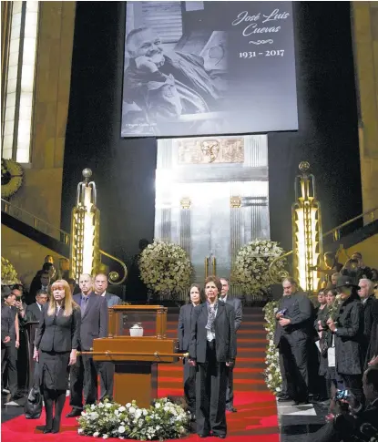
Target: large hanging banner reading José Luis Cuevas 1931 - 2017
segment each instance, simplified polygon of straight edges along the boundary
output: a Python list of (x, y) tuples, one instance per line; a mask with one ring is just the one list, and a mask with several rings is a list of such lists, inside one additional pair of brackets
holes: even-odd
[(127, 2), (122, 137), (296, 129), (291, 2)]

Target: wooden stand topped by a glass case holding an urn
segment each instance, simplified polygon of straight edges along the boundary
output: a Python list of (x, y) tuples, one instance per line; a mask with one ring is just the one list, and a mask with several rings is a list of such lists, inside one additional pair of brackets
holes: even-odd
[[(114, 400), (148, 407), (158, 396), (158, 364), (179, 360), (178, 340), (167, 337), (167, 307), (115, 305), (109, 308), (107, 338), (93, 342), (94, 361), (115, 365)], [(86, 352), (84, 352), (86, 353)]]

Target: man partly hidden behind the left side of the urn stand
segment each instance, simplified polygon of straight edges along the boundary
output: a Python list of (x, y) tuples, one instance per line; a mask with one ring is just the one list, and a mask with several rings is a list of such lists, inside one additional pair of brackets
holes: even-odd
[[(122, 303), (121, 298), (117, 294), (107, 293), (107, 275), (104, 273), (97, 273), (95, 276), (95, 293), (97, 296), (102, 296), (106, 299), (107, 308)], [(98, 368), (100, 375), (100, 400), (105, 397), (113, 400), (114, 364), (108, 361), (99, 362)]]

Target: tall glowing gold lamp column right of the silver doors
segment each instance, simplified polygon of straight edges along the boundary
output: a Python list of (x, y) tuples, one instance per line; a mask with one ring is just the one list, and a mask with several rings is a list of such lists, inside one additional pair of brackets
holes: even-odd
[(291, 206), (294, 277), (305, 292), (315, 292), (322, 266), (321, 204), (316, 200), (315, 177), (308, 173), (310, 164), (302, 161), (301, 175), (295, 179), (296, 202)]

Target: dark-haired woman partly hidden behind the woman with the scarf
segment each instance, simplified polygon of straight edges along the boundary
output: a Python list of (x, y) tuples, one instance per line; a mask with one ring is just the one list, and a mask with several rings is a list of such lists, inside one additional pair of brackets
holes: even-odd
[[(194, 307), (205, 302), (199, 284), (191, 284), (188, 303), (183, 305), (179, 310), (179, 351), (186, 353), (189, 350), (189, 342), (191, 336), (191, 323), (194, 314)], [(189, 365), (189, 359), (184, 357), (184, 396), (189, 406), (192, 420), (195, 419), (196, 413), (196, 367)]]

